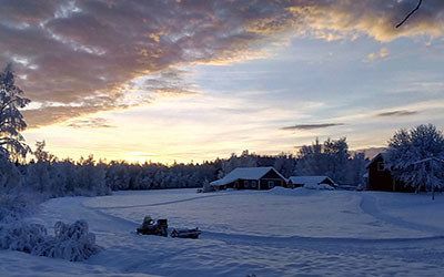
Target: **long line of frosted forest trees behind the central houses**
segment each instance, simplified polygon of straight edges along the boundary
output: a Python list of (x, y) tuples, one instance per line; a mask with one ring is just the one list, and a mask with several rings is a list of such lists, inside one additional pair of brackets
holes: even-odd
[(1, 158), (1, 185), (6, 189), (26, 187), (46, 197), (64, 195), (107, 195), (111, 191), (201, 187), (204, 182), (223, 177), (236, 167), (273, 166), (285, 177), (292, 175), (329, 175), (340, 184), (362, 184), (366, 160), (363, 154), (351, 156), (345, 138), (316, 140), (291, 154), (259, 155), (244, 151), (229, 158), (203, 163), (128, 163), (95, 161), (93, 156), (73, 161), (59, 160), (38, 142), (34, 160), (13, 164)]

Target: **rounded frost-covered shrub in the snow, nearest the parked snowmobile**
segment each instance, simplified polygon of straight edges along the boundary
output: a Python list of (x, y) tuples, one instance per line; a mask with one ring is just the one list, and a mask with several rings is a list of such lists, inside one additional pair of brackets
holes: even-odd
[(49, 237), (46, 242), (37, 245), (32, 249), (32, 254), (81, 261), (100, 249), (95, 244), (94, 234), (89, 233), (85, 220), (77, 220), (71, 225), (58, 222), (54, 226), (54, 237)]

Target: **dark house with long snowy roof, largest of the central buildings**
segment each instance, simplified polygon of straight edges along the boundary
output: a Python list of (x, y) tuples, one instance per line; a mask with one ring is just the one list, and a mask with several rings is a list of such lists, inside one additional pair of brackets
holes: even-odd
[(270, 189), (285, 186), (286, 179), (273, 167), (238, 167), (221, 179), (211, 182), (216, 189)]

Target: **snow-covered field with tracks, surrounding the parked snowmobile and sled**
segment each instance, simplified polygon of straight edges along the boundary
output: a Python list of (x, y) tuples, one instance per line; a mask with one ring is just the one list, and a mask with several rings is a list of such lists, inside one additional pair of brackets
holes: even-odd
[[(200, 239), (139, 236), (145, 215)], [(70, 263), (0, 250), (0, 275), (441, 276), (444, 196), (285, 189), (119, 192), (46, 202), (30, 220), (84, 218), (103, 250)]]

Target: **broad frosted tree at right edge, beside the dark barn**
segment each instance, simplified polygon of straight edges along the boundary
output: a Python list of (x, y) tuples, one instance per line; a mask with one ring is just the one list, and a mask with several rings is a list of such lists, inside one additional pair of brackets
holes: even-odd
[(389, 141), (386, 167), (420, 192), (444, 188), (444, 136), (432, 124), (400, 130)]

